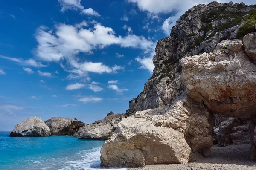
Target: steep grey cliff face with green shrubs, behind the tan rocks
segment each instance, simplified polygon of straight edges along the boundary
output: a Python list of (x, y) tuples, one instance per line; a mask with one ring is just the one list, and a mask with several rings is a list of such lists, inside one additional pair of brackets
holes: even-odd
[(255, 9), (256, 5), (232, 2), (212, 2), (189, 9), (177, 20), (171, 35), (158, 41), (153, 75), (145, 83), (143, 92), (129, 102), (127, 112), (172, 104), (185, 89), (180, 59), (212, 52), (222, 40), (242, 38), (246, 34), (243, 35), (241, 26), (253, 17)]

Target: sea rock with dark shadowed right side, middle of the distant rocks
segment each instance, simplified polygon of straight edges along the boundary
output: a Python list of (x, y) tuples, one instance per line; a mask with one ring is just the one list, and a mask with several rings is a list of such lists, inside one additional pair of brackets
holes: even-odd
[(50, 128), (52, 135), (74, 135), (77, 136), (77, 131), (83, 127), (84, 122), (77, 119), (53, 117), (45, 124)]

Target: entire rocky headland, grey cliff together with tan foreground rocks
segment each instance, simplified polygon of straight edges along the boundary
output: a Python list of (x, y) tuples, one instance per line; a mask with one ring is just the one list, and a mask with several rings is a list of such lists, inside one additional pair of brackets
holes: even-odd
[(256, 159), (255, 9), (212, 2), (177, 20), (157, 43), (153, 76), (129, 102), (131, 116), (103, 145), (102, 167), (197, 161), (210, 156), (213, 138), (250, 141)]

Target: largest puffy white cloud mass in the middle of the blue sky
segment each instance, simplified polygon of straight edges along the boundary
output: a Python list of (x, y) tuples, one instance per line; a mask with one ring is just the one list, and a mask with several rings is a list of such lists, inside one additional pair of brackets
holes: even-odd
[[(76, 57), (79, 53), (91, 54), (94, 49), (103, 49), (113, 44), (123, 48), (139, 48), (144, 51), (151, 49), (154, 43), (143, 36), (133, 34), (125, 37), (116, 36), (112, 28), (95, 23), (93, 28), (78, 28), (76, 26), (57, 24), (55, 30), (41, 26), (36, 35), (38, 46), (36, 56), (44, 61), (63, 61), (72, 68), (68, 78), (81, 78), (87, 72), (116, 73), (124, 69), (123, 66), (106, 66), (104, 63), (80, 61)], [(63, 66), (64, 68), (64, 66)]]

